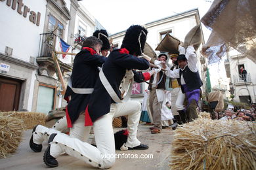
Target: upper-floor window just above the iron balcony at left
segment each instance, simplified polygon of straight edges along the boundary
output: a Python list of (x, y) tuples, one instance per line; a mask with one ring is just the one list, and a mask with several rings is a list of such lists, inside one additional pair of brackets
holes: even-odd
[(49, 16), (48, 30), (49, 32), (56, 33), (60, 38), (63, 36), (64, 26), (56, 20), (53, 16)]

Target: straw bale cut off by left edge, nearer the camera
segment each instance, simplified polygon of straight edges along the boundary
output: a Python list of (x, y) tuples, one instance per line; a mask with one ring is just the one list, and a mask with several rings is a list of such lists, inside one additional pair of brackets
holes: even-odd
[(11, 116), (0, 115), (0, 158), (16, 152), (22, 139), (23, 121)]

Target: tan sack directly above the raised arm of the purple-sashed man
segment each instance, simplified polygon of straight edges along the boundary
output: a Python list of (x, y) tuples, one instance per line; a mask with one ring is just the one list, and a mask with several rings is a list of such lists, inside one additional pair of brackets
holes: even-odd
[(184, 40), (184, 48), (187, 48), (190, 45), (194, 45), (195, 50), (198, 50), (202, 42), (202, 29), (200, 25), (193, 27), (186, 35)]

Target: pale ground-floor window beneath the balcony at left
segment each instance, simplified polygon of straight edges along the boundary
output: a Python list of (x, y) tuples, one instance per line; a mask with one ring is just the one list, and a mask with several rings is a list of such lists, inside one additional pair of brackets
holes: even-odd
[(43, 112), (47, 114), (50, 110), (53, 110), (55, 105), (56, 87), (47, 86), (45, 84), (39, 84), (37, 94), (37, 110), (36, 112)]

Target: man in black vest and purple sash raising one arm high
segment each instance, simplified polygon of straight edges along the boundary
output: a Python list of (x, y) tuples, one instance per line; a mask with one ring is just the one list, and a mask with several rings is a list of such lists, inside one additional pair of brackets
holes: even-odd
[(181, 84), (182, 93), (185, 93), (188, 99), (188, 105), (186, 106), (187, 121), (192, 122), (193, 119), (198, 118), (196, 107), (200, 98), (200, 87), (203, 82), (198, 73), (196, 67), (198, 59), (196, 57), (196, 51), (193, 46), (186, 48), (186, 55), (180, 54), (177, 58), (180, 69), (171, 71), (167, 67), (167, 76), (173, 78), (181, 78), (179, 82)]

